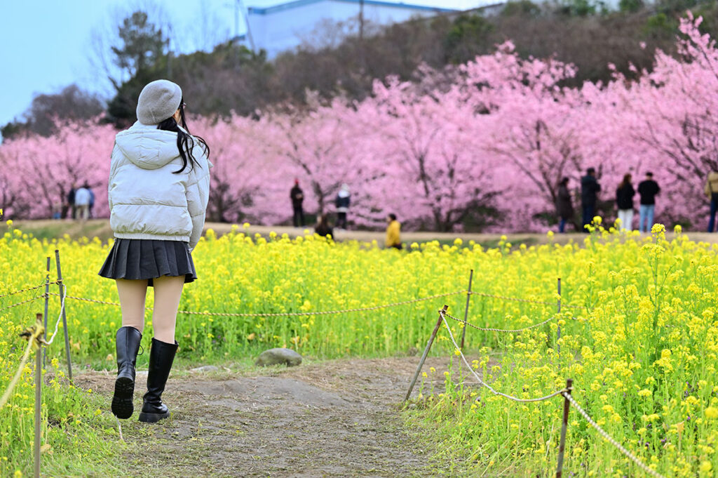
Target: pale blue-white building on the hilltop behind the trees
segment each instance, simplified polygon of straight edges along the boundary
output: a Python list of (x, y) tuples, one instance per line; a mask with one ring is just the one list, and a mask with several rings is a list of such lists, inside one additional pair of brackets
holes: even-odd
[[(437, 0), (437, 5), (440, 3), (441, 0)], [(274, 58), (280, 52), (301, 45), (322, 24), (357, 20), (362, 6), (365, 22), (373, 25), (457, 12), (441, 6), (380, 0), (294, 0), (266, 8), (250, 7), (248, 24), (254, 47), (266, 50), (269, 58)]]

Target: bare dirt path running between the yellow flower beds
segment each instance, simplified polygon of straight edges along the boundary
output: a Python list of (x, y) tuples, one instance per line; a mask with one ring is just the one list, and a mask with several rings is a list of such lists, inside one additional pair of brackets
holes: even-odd
[[(350, 359), (256, 375), (170, 377), (172, 416), (155, 426), (123, 421), (129, 472), (162, 477), (430, 477), (434, 446), (399, 412), (419, 357)], [(447, 359), (425, 367), (443, 378)], [(139, 378), (144, 382), (144, 378)], [(111, 374), (78, 377), (108, 397)], [(135, 403), (139, 403), (136, 391)]]

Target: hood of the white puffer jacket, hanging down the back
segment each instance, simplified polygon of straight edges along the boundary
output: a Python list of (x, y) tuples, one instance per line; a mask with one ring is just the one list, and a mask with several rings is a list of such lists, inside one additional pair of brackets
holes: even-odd
[(137, 121), (115, 137), (117, 147), (137, 167), (156, 170), (177, 157), (177, 133), (157, 129), (157, 125)]

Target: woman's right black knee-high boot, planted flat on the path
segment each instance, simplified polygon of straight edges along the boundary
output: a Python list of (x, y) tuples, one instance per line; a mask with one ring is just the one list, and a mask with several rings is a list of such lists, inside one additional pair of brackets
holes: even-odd
[(177, 342), (167, 344), (152, 339), (152, 348), (149, 351), (149, 374), (147, 374), (147, 392), (144, 394), (142, 411), (139, 420), (154, 423), (162, 418), (169, 417), (167, 405), (162, 403), (162, 392), (167, 384), (169, 370), (172, 369), (174, 354), (177, 353)]

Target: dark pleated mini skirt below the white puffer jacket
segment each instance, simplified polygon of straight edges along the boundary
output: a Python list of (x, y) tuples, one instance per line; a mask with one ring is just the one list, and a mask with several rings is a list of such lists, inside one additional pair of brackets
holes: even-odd
[(152, 239), (115, 239), (100, 270), (108, 279), (147, 280), (185, 276), (185, 284), (197, 279), (190, 244)]

